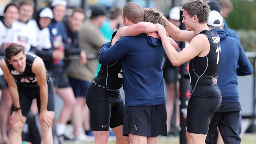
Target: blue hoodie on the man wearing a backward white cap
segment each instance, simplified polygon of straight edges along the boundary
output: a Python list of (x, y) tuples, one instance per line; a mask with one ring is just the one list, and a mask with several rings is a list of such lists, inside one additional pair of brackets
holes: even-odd
[(222, 103), (239, 102), (237, 76), (252, 74), (252, 65), (237, 39), (229, 37), (224, 30), (215, 29), (214, 31), (221, 39), (218, 86), (222, 94)]

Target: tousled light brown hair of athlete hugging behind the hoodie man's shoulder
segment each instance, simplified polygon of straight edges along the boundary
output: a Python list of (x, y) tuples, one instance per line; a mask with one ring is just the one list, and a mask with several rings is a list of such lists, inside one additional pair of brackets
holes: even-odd
[(144, 21), (151, 22), (153, 24), (161, 24), (164, 27), (167, 26), (167, 23), (162, 18), (162, 13), (156, 9), (144, 8)]

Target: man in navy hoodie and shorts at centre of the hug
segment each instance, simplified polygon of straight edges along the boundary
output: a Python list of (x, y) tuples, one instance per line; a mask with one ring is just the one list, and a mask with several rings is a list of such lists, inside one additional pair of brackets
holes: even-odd
[[(133, 23), (125, 16), (123, 22), (126, 26)], [(104, 65), (121, 59), (125, 90), (123, 135), (129, 135), (132, 144), (156, 144), (158, 135), (167, 134), (161, 41), (141, 33), (122, 37), (109, 46), (109, 42), (102, 46), (99, 62)]]

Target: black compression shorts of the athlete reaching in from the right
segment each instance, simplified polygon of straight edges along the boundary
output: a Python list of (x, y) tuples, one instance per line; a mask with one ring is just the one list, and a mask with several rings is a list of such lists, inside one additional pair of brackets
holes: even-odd
[(191, 96), (187, 106), (187, 132), (206, 135), (213, 114), (221, 106), (221, 99)]

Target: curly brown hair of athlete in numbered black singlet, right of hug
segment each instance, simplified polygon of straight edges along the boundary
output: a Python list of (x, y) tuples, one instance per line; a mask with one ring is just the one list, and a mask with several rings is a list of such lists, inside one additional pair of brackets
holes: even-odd
[(183, 4), (182, 9), (186, 10), (191, 17), (196, 15), (199, 23), (207, 23), (210, 6), (202, 0), (191, 0)]

